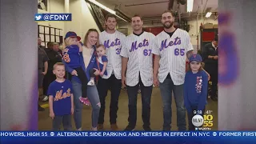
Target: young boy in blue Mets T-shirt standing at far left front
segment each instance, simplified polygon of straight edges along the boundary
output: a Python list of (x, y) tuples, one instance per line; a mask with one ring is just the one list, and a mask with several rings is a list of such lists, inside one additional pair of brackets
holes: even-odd
[(56, 80), (48, 88), (50, 118), (53, 119), (53, 130), (71, 130), (71, 114), (74, 114), (74, 96), (72, 83), (64, 78), (65, 66), (62, 62), (54, 64)]

